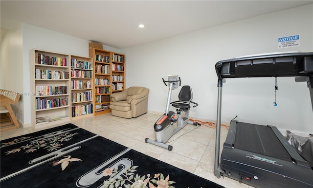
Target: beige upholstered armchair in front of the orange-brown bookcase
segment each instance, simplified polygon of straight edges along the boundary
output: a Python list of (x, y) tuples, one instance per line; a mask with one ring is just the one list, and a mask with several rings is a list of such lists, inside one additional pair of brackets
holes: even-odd
[(129, 87), (122, 92), (111, 94), (112, 115), (132, 118), (147, 113), (148, 94), (149, 89), (145, 87)]

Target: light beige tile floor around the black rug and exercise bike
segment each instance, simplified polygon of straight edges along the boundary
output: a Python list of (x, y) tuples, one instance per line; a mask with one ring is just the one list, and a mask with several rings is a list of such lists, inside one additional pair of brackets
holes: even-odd
[[(161, 114), (146, 113), (137, 118), (125, 119), (111, 113), (74, 120), (70, 123), (85, 130), (108, 138), (126, 147), (132, 148), (160, 161), (184, 169), (227, 188), (251, 188), (230, 178), (215, 177), (215, 129), (207, 126), (187, 125), (169, 140), (172, 151), (145, 143), (145, 138), (155, 139), (154, 124)], [(198, 119), (200, 121), (208, 121)], [(59, 126), (59, 125), (56, 125)], [(46, 127), (47, 129), (50, 127)], [(0, 139), (7, 139), (41, 129), (20, 128), (0, 132)], [(221, 128), (221, 147), (228, 130)], [(222, 148), (221, 148), (222, 152)]]

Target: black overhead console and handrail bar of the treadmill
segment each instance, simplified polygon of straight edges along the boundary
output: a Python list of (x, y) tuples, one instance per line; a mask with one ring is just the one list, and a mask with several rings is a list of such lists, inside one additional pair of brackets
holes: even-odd
[[(246, 73), (236, 73), (236, 69), (243, 66), (247, 70)], [(268, 69), (269, 66), (276, 68), (276, 70)], [(278, 69), (282, 66), (286, 69)], [(218, 61), (215, 64), (215, 70), (219, 80), (236, 77), (308, 76), (313, 74), (313, 52), (245, 56), (227, 59)]]

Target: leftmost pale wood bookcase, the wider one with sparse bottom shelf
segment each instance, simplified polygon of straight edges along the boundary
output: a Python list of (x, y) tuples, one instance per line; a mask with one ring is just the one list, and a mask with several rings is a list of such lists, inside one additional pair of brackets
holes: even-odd
[(70, 55), (33, 49), (31, 65), (32, 125), (70, 121)]

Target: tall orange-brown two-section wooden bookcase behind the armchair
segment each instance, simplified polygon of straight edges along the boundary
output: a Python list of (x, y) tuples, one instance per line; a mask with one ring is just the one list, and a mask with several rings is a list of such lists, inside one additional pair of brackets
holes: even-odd
[(90, 48), (89, 57), (94, 62), (93, 114), (110, 113), (111, 94), (125, 90), (125, 55)]

